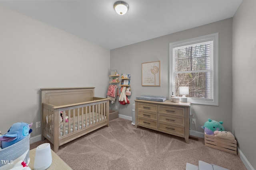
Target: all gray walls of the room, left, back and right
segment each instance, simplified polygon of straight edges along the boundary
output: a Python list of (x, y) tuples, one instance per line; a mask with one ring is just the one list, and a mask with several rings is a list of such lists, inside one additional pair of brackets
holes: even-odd
[[(169, 96), (169, 43), (218, 32), (219, 106), (192, 104), (196, 131), (203, 132), (200, 126), (208, 118), (223, 121), (226, 130), (236, 136), (244, 158), (256, 169), (255, 9), (255, 0), (243, 0), (233, 21), (230, 18), (109, 51), (0, 5), (0, 130), (4, 133), (19, 121), (40, 121), (40, 88), (94, 86), (95, 96), (105, 97), (112, 69), (132, 76), (131, 104), (110, 104), (112, 109), (118, 107), (119, 114), (131, 117), (136, 96)], [(161, 61), (160, 87), (141, 86), (141, 63), (151, 61)], [(190, 127), (195, 130), (194, 125)], [(40, 135), (40, 128), (33, 125), (32, 129), (32, 137)]]

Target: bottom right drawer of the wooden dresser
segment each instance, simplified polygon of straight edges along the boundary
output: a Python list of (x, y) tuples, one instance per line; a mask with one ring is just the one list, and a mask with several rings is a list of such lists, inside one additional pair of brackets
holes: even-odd
[(185, 131), (184, 131), (184, 127), (178, 127), (178, 126), (174, 126), (174, 125), (167, 125), (164, 123), (158, 123), (158, 129), (160, 131), (163, 131), (165, 133), (169, 133), (169, 134), (177, 134), (180, 136), (184, 136), (185, 135)]

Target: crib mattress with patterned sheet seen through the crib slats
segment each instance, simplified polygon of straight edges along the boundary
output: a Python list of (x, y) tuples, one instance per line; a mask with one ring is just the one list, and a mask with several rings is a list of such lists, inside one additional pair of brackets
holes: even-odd
[[(86, 121), (85, 120), (85, 114), (84, 114), (84, 121), (82, 123), (82, 115), (80, 115), (80, 117), (79, 117), (79, 129), (81, 129), (82, 126), (85, 127), (86, 124), (87, 124), (87, 126), (89, 126), (89, 125), (92, 125), (93, 123), (96, 123), (96, 122), (99, 122), (99, 121), (104, 121), (106, 118), (107, 118), (106, 116), (101, 117), (101, 115), (100, 115), (100, 119), (99, 119), (99, 115), (98, 115), (98, 113), (96, 113), (96, 116), (94, 115), (93, 119), (92, 119), (92, 116), (90, 116), (90, 118), (87, 118), (87, 121)], [(71, 132), (74, 131), (72, 120), (73, 119), (71, 119), (71, 122), (70, 122), (70, 131)], [(75, 130), (77, 130), (77, 128), (78, 128), (77, 116), (75, 117), (75, 120), (76, 120)], [(65, 134), (68, 134), (68, 122), (65, 123)], [(60, 125), (60, 136), (63, 136), (63, 122)]]

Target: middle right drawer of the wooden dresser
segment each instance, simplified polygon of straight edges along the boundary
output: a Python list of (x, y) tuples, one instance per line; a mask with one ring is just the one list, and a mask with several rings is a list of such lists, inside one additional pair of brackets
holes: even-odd
[(179, 116), (158, 114), (158, 121), (166, 124), (185, 126), (185, 118)]

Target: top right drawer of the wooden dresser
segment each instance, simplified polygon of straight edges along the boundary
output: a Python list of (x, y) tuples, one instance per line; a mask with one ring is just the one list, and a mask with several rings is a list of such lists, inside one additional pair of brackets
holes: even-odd
[(176, 115), (176, 116), (185, 116), (184, 107), (172, 107), (172, 106), (158, 106), (158, 113)]

